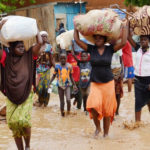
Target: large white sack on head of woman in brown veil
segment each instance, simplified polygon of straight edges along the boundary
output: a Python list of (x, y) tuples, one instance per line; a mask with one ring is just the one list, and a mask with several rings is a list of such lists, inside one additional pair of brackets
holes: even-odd
[(23, 16), (9, 16), (1, 28), (1, 38), (5, 42), (25, 41), (38, 33), (36, 20)]

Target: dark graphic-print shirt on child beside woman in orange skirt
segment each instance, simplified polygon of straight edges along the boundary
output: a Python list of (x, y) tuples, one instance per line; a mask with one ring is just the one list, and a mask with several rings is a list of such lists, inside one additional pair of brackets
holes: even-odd
[(80, 67), (80, 88), (87, 88), (90, 84), (92, 66), (90, 62), (78, 62)]

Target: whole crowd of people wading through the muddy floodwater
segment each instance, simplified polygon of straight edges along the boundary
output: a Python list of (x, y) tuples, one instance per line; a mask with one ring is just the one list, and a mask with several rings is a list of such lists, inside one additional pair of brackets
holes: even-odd
[[(0, 22), (0, 27), (5, 22)], [(77, 109), (89, 113), (95, 124), (95, 137), (101, 131), (103, 119), (104, 137), (109, 134), (110, 124), (119, 115), (123, 97), (123, 81), (128, 79), (128, 91), (135, 85), (135, 120), (141, 121), (142, 108), (150, 110), (150, 36), (141, 35), (140, 44), (132, 39), (128, 20), (122, 26), (120, 42), (108, 44), (108, 37), (94, 35), (95, 44), (80, 40), (74, 29), (74, 40), (82, 48), (76, 52), (74, 45), (70, 51), (61, 49), (59, 62), (55, 62), (53, 49), (48, 42), (48, 33), (38, 33), (37, 42), (28, 51), (23, 41), (9, 43), (9, 50), (0, 51), (2, 69), (2, 92), (6, 95), (7, 124), (13, 132), (18, 150), (30, 150), (31, 111), (33, 92), (38, 95), (39, 106), (49, 103), (52, 82), (57, 78), (61, 116), (65, 117), (65, 97), (67, 114), (71, 111), (71, 99)], [(65, 32), (63, 23), (60, 32)], [(136, 65), (133, 66), (132, 47), (137, 51)], [(54, 73), (50, 78), (51, 67)], [(135, 71), (134, 71), (135, 70)], [(34, 88), (33, 86), (34, 85)]]

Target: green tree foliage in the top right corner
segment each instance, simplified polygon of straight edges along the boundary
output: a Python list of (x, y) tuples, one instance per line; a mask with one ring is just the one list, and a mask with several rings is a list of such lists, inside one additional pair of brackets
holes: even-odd
[(125, 0), (125, 5), (129, 6), (144, 6), (144, 5), (150, 5), (150, 0)]

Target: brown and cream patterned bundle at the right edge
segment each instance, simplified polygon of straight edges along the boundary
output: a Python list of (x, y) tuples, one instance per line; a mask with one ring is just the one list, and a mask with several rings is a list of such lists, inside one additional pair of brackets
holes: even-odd
[(143, 6), (130, 17), (130, 28), (136, 35), (150, 35), (150, 6)]

